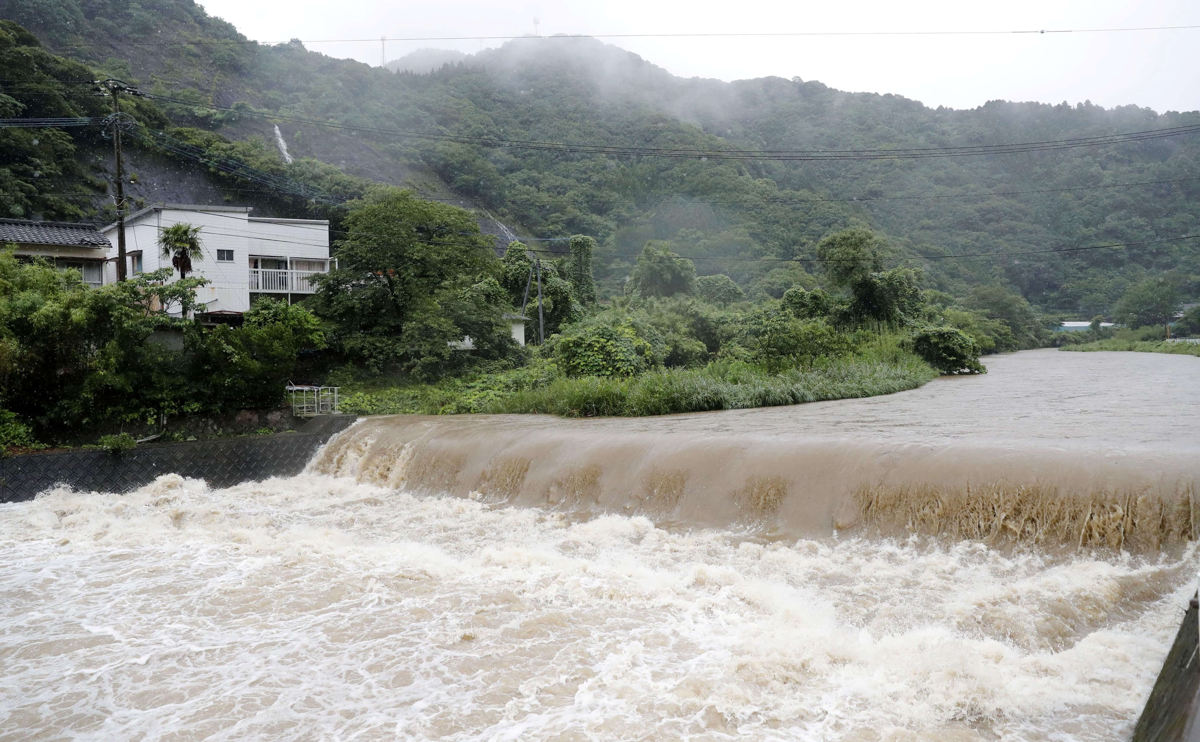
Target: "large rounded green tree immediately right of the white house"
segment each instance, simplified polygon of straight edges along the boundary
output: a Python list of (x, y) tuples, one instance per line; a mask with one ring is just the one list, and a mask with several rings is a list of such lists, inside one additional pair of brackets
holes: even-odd
[[(310, 299), (338, 354), (374, 372), (434, 378), (472, 357), (516, 352), (500, 318), (509, 307), (494, 304), (503, 292), (472, 291), (494, 282), (500, 265), (470, 211), (380, 187), (350, 205), (346, 231), (337, 269)], [(475, 352), (451, 346), (466, 336)]]

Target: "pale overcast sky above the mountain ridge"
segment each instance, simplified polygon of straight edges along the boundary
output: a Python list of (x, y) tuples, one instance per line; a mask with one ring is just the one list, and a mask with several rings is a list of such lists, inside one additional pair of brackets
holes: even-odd
[[(251, 38), (299, 37), (334, 56), (379, 64), (379, 36), (770, 31), (995, 31), (1200, 25), (1198, 0), (200, 0)], [(311, 40), (371, 38), (316, 43)], [(841, 90), (895, 92), (929, 106), (989, 100), (1200, 109), (1200, 28), (964, 36), (606, 38), (683, 77), (799, 76)], [(478, 52), (503, 41), (388, 42), (388, 59), (420, 47)]]

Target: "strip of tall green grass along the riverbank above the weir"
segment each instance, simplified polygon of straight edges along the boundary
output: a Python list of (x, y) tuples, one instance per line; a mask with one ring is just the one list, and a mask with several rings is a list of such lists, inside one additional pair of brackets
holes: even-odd
[(515, 371), (439, 384), (352, 389), (342, 409), (355, 414), (643, 417), (893, 394), (916, 389), (937, 375), (884, 339), (851, 357), (781, 372), (742, 361), (713, 361), (700, 369), (660, 369), (632, 377), (570, 377), (552, 361), (540, 360)]

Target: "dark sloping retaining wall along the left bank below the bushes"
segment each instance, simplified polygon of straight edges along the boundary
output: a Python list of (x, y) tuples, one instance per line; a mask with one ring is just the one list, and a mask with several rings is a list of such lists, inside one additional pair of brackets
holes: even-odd
[(128, 492), (162, 474), (204, 479), (226, 487), (268, 477), (294, 477), (354, 415), (322, 415), (294, 433), (143, 444), (121, 456), (101, 450), (30, 454), (0, 459), (0, 502), (32, 499), (56, 485)]

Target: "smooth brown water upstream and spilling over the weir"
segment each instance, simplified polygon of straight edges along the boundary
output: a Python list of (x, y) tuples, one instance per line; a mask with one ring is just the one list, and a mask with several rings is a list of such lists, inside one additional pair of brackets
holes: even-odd
[[(1072, 363), (1080, 355), (1025, 353), (992, 361), (988, 377), (799, 407), (637, 420), (376, 418), (314, 467), (491, 503), (776, 535), (914, 531), (1135, 551), (1189, 540), (1200, 532), (1200, 405), (1180, 377), (1139, 373), (1129, 388), (1118, 354)], [(1194, 359), (1180, 361), (1165, 365), (1194, 378)], [(1031, 379), (1031, 369), (1048, 378)], [(1159, 399), (1154, 381), (1178, 399)]]

